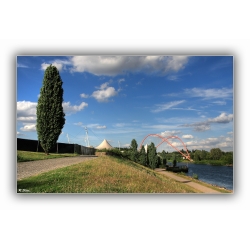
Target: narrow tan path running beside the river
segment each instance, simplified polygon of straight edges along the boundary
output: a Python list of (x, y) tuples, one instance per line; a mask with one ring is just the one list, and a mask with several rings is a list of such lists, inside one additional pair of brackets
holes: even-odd
[(179, 181), (179, 182), (182, 182), (182, 183), (185, 183), (186, 185), (190, 186), (190, 187), (193, 187), (199, 191), (201, 191), (201, 193), (205, 193), (205, 194), (221, 194), (221, 192), (219, 191), (216, 191), (216, 190), (213, 190), (209, 187), (205, 187), (199, 183), (196, 183), (196, 182), (193, 182), (193, 181), (190, 181), (190, 180), (187, 180), (185, 178), (182, 178), (174, 173), (171, 173), (171, 172), (168, 172), (166, 171), (165, 169), (155, 169), (156, 172), (159, 172), (163, 175), (166, 175), (176, 181)]

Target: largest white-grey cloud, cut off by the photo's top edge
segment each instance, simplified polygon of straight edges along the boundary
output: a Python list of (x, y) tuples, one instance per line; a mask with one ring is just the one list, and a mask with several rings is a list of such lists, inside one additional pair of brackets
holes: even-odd
[(183, 69), (187, 56), (73, 56), (72, 72), (115, 76), (128, 71), (147, 73), (177, 72)]

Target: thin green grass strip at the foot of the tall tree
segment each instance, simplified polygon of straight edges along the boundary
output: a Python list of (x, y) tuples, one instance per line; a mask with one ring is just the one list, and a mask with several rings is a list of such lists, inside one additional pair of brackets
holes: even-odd
[(17, 151), (17, 162), (24, 161), (37, 161), (37, 160), (46, 160), (53, 158), (62, 158), (76, 156), (77, 154), (49, 154), (46, 155), (42, 152), (29, 152), (29, 151)]

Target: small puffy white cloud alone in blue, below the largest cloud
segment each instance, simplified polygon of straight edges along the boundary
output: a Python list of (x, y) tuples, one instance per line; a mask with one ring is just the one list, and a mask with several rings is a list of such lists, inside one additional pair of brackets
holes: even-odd
[(94, 97), (98, 102), (110, 101), (110, 98), (116, 96), (118, 91), (116, 91), (114, 87), (109, 87), (108, 85), (109, 82), (101, 84), (99, 90), (96, 90), (92, 93), (92, 97)]

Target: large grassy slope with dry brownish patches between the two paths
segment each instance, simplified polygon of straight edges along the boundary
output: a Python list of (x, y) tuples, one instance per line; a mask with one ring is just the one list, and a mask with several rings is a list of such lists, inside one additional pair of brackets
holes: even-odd
[(28, 190), (30, 193), (197, 192), (137, 163), (112, 156), (98, 157), (20, 180), (17, 190)]

